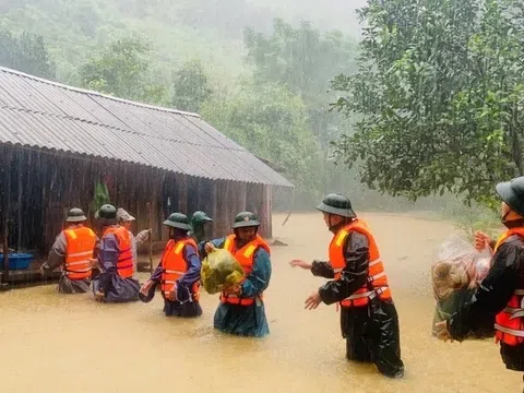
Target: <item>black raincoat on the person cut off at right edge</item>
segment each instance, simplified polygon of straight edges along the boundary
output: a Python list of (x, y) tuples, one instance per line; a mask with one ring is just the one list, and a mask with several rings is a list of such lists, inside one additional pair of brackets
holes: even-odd
[[(453, 314), (448, 330), (454, 340), (465, 340), (478, 326), (492, 324), (515, 289), (524, 288), (524, 238), (511, 236), (499, 247), (491, 269), (475, 293), (473, 300)], [(524, 344), (510, 346), (500, 343), (505, 367), (524, 371)]]

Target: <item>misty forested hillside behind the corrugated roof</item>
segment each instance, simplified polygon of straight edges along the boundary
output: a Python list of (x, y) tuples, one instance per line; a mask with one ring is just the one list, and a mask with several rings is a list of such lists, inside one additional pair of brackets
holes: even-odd
[(352, 122), (329, 109), (357, 31), (342, 0), (2, 0), (0, 64), (199, 112), (285, 170), (281, 203), (310, 206), (353, 182), (329, 160)]

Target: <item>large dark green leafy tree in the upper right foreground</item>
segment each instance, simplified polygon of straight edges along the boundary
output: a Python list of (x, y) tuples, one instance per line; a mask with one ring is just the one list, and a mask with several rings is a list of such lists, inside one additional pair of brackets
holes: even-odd
[(502, 0), (370, 0), (359, 72), (333, 107), (358, 115), (334, 143), (370, 188), (412, 200), (445, 191), (486, 202), (523, 174), (522, 13)]

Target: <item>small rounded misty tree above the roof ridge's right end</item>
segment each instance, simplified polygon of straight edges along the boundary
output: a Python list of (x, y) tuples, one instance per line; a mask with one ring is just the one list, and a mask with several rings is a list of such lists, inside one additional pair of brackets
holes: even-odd
[(172, 106), (180, 110), (199, 112), (202, 103), (213, 94), (200, 60), (186, 62), (174, 75)]

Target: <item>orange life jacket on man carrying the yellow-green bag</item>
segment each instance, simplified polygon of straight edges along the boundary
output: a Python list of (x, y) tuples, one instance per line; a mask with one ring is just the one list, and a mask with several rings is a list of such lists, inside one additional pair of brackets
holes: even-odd
[[(267, 253), (271, 254), (270, 246), (267, 246), (260, 235), (257, 235), (254, 240), (250, 241), (238, 250), (235, 235), (229, 235), (226, 237), (226, 242), (224, 243), (224, 249), (229, 251), (242, 266), (245, 277), (251, 274), (253, 271), (254, 253), (259, 248), (263, 248), (265, 251), (267, 251)], [(263, 300), (263, 295), (260, 294), (257, 296), (257, 298)], [(254, 300), (255, 298), (242, 298), (238, 297), (237, 295), (226, 295), (224, 293), (221, 295), (221, 301), (229, 305), (251, 306), (254, 303)]]

